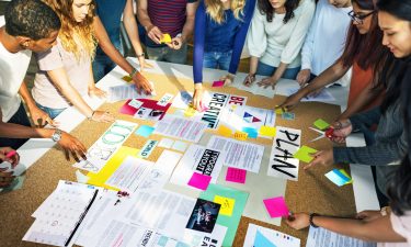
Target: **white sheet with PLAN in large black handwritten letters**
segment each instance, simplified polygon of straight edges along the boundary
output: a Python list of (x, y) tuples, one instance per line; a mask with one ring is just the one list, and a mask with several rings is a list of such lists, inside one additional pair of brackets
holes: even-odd
[(299, 149), (301, 131), (282, 126), (276, 128), (267, 176), (297, 181), (299, 160), (293, 155)]

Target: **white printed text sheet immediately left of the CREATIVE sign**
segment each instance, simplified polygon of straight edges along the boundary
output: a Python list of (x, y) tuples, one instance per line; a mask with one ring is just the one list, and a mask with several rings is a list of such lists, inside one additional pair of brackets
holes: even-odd
[(167, 115), (156, 124), (155, 134), (198, 143), (206, 128), (207, 123), (205, 122)]

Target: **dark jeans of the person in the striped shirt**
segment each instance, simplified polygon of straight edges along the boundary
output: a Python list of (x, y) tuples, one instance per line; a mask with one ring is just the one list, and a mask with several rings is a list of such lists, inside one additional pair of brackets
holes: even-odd
[(149, 59), (185, 65), (187, 61), (187, 44), (184, 43), (180, 49), (172, 49), (169, 46), (146, 47)]

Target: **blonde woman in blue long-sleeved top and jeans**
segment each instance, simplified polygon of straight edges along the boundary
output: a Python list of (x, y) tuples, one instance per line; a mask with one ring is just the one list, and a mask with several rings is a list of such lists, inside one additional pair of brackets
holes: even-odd
[(201, 109), (203, 67), (228, 70), (231, 83), (238, 69), (255, 0), (203, 0), (195, 14), (194, 105)]

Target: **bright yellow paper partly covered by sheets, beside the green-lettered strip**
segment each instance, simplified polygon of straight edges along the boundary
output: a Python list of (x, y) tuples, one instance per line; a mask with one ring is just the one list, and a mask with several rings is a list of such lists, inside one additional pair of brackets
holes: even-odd
[(103, 187), (111, 190), (118, 190), (116, 188), (110, 187), (104, 184), (105, 181), (117, 170), (117, 168), (122, 165), (123, 160), (127, 156), (137, 157), (139, 153), (138, 149), (122, 146), (114, 155), (109, 159), (105, 166), (100, 170), (99, 173), (89, 172), (87, 177), (89, 177), (89, 181), (87, 183), (98, 187)]

